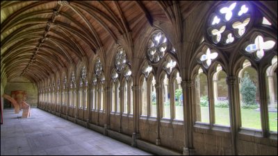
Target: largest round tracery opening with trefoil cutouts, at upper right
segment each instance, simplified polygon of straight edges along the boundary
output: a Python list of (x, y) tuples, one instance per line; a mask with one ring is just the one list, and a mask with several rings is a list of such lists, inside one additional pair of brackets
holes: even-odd
[(250, 5), (244, 1), (224, 3), (209, 16), (206, 36), (218, 46), (232, 44), (246, 33), (251, 14)]

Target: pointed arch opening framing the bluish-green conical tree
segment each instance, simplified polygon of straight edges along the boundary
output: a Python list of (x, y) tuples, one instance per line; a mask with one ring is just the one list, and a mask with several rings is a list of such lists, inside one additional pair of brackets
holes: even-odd
[[(261, 130), (261, 113), (258, 72), (245, 60), (238, 73), (240, 92), (241, 127)], [(252, 118), (250, 117), (252, 116)]]

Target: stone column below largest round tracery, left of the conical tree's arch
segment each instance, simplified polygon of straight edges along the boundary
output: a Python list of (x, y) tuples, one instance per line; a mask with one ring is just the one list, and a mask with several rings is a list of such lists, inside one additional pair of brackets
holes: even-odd
[(226, 79), (229, 92), (229, 113), (231, 125), (231, 155), (237, 155), (236, 138), (237, 131), (240, 128), (240, 93), (238, 90), (238, 79), (236, 76), (229, 76)]

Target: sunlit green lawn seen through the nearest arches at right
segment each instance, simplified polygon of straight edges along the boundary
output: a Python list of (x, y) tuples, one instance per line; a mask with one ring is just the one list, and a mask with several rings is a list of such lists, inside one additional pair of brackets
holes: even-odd
[[(208, 107), (201, 107), (202, 122), (209, 123)], [(256, 110), (241, 109), (242, 127), (261, 130), (260, 112)], [(277, 112), (269, 113), (270, 130), (277, 132)], [(215, 123), (230, 125), (229, 108), (215, 107)]]

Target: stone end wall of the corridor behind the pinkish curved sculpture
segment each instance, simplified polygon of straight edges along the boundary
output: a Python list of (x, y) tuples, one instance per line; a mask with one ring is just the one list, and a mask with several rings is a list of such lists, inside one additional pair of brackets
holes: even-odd
[[(11, 96), (11, 92), (15, 90), (26, 91), (26, 103), (28, 103), (28, 105), (31, 105), (31, 107), (37, 107), (38, 88), (34, 85), (34, 83), (31, 83), (30, 80), (24, 77), (13, 78), (7, 83), (4, 92), (5, 94)], [(10, 102), (6, 99), (4, 100), (4, 106), (10, 107)]]

